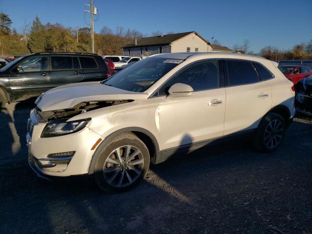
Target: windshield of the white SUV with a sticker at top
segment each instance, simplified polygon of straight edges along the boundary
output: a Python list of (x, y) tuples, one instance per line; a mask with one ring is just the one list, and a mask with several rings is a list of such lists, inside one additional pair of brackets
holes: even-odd
[(181, 62), (183, 60), (180, 59), (143, 59), (122, 69), (104, 84), (128, 91), (144, 92)]

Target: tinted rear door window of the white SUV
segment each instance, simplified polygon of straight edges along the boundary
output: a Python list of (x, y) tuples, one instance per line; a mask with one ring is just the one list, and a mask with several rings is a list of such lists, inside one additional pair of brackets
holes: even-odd
[(249, 84), (259, 81), (254, 66), (249, 61), (227, 60), (229, 85)]

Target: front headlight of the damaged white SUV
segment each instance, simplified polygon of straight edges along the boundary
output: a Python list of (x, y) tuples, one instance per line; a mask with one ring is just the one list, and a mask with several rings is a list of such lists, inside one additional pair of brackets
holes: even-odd
[(41, 137), (58, 137), (76, 133), (83, 129), (91, 118), (66, 122), (67, 120), (68, 118), (59, 118), (49, 121), (43, 129)]

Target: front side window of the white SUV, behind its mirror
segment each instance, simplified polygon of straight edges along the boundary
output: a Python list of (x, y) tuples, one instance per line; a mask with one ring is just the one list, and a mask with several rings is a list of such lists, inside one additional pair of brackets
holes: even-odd
[(218, 60), (207, 60), (191, 65), (163, 85), (159, 89), (158, 95), (168, 95), (169, 88), (175, 83), (188, 84), (194, 91), (218, 88)]

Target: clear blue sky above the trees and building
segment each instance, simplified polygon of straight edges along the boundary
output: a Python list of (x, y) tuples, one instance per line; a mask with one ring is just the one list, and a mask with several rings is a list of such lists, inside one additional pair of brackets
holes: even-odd
[[(290, 49), (312, 39), (312, 0), (94, 0), (99, 20), (95, 31), (106, 25), (137, 29), (197, 31), (210, 40), (232, 47), (249, 39), (250, 49), (264, 46)], [(0, 0), (0, 11), (20, 30), (24, 19), (36, 15), (42, 23), (85, 27), (85, 3), (89, 0)], [(86, 15), (89, 22), (90, 15)]]

